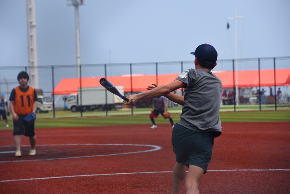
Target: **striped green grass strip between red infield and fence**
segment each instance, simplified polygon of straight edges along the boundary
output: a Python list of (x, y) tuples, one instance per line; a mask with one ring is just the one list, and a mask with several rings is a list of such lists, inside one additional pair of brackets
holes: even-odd
[[(142, 109), (142, 110), (140, 110)], [(146, 110), (144, 110), (146, 109)], [(181, 108), (168, 108), (173, 122), (180, 120)], [(129, 110), (131, 113), (131, 110)], [(114, 115), (119, 111), (110, 111), (111, 116), (104, 116), (105, 112), (101, 112), (103, 115), (91, 116), (87, 115), (91, 112), (84, 112), (83, 117), (80, 117), (80, 113), (77, 113), (76, 117), (64, 116), (64, 118), (41, 118), (41, 116), (51, 113), (37, 114), (37, 120), (35, 122), (36, 129), (44, 128), (57, 128), (57, 127), (90, 127), (90, 126), (108, 126), (108, 125), (130, 125), (130, 124), (151, 124), (149, 119), (149, 113), (151, 108), (139, 108), (134, 109), (134, 115)], [(59, 112), (68, 111), (57, 111)], [(87, 113), (87, 114), (85, 114)], [(5, 126), (5, 122), (0, 122), (0, 130), (13, 129), (11, 116), (8, 117), (8, 123), (10, 127)], [(290, 111), (253, 111), (253, 112), (220, 112), (220, 119), (223, 122), (290, 122)], [(168, 119), (164, 120), (161, 116), (156, 119), (157, 124), (168, 123)], [(290, 127), (289, 127), (290, 128)]]

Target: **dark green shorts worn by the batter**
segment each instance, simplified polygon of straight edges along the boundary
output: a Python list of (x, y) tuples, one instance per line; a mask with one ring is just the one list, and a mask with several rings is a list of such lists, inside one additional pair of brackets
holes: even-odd
[(176, 155), (176, 162), (198, 166), (206, 173), (207, 166), (211, 161), (213, 149), (213, 134), (210, 132), (197, 132), (176, 123), (171, 143)]

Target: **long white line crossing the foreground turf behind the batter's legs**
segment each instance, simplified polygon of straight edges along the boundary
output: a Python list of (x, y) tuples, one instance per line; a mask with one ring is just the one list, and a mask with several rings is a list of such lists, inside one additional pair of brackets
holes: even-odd
[[(220, 172), (220, 171), (290, 171), (290, 169), (233, 169), (233, 170), (208, 170), (207, 172)], [(94, 174), (94, 175), (74, 175), (74, 176), (61, 176), (61, 177), (43, 177), (43, 178), (30, 178), (30, 179), (12, 179), (2, 180), (1, 182), (12, 181), (31, 181), (31, 180), (43, 180), (43, 179), (61, 179), (61, 178), (73, 178), (73, 177), (92, 177), (92, 176), (108, 176), (108, 175), (134, 175), (134, 174), (153, 174), (153, 173), (172, 173), (172, 171), (160, 171), (160, 172), (128, 172), (128, 173), (111, 173), (111, 174)]]

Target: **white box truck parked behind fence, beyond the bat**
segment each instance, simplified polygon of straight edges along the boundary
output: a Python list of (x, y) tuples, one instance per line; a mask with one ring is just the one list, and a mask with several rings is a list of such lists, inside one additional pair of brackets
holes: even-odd
[[(123, 86), (115, 86), (124, 95)], [(66, 101), (68, 110), (72, 112), (112, 110), (113, 108), (123, 108), (123, 99), (107, 91), (103, 86), (78, 88), (78, 93), (70, 94)], [(106, 106), (107, 104), (107, 106)]]

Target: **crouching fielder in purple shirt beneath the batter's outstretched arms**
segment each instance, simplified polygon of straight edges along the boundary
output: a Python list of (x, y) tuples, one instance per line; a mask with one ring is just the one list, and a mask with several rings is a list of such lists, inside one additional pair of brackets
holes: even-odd
[(168, 100), (164, 96), (152, 99), (152, 111), (150, 114), (150, 120), (153, 123), (153, 125), (152, 127), (150, 127), (150, 129), (157, 129), (157, 125), (155, 124), (154, 118), (156, 119), (159, 114), (161, 114), (164, 119), (169, 118), (171, 127), (172, 128), (174, 127), (171, 115), (166, 110), (167, 102)]

